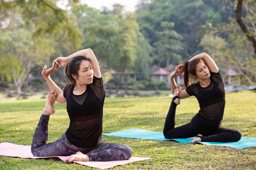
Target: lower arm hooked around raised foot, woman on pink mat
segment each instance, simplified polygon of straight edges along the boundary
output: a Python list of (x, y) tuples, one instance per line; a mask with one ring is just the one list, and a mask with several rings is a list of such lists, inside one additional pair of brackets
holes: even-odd
[(55, 90), (57, 92), (57, 102), (59, 103), (65, 103), (67, 102), (65, 97), (63, 96), (63, 91), (58, 87), (58, 85), (55, 84), (55, 82), (53, 82), (53, 80), (50, 77), (50, 74), (52, 74), (54, 71), (56, 71), (58, 68), (58, 65), (53, 64), (52, 68), (47, 69), (47, 65), (44, 65), (44, 69), (42, 71), (42, 76), (44, 77), (44, 79), (47, 82), (47, 85), (49, 86), (50, 90)]

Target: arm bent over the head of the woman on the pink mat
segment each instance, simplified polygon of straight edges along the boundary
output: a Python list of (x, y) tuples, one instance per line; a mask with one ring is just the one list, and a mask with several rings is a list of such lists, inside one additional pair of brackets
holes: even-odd
[(98, 77), (98, 78), (102, 77), (102, 75), (100, 73), (100, 69), (99, 69), (98, 59), (96, 58), (95, 54), (93, 53), (93, 50), (90, 48), (77, 51), (68, 57), (58, 57), (57, 59), (55, 59), (53, 61), (53, 63), (55, 62), (56, 64), (58, 64), (58, 67), (63, 67), (65, 65), (67, 65), (67, 63), (70, 61), (70, 59), (72, 59), (73, 57), (76, 57), (76, 56), (84, 56), (84, 57), (89, 58), (92, 66), (93, 66), (94, 76)]

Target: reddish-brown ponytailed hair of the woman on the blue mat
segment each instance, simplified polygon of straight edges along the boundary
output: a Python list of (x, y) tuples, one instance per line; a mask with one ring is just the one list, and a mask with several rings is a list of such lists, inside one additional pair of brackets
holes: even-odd
[(183, 62), (183, 68), (181, 68), (182, 72), (184, 71), (184, 84), (185, 87), (188, 88), (190, 85), (190, 74), (194, 77), (195, 82), (197, 82), (196, 79), (196, 66), (198, 63), (204, 63), (204, 60), (202, 59), (193, 59), (192, 61)]

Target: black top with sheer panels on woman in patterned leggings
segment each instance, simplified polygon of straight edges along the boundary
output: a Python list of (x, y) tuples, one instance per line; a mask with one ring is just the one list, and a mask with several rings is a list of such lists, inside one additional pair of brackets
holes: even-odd
[(64, 88), (70, 126), (66, 136), (76, 147), (94, 147), (102, 141), (102, 116), (105, 91), (102, 78), (93, 77), (81, 95), (73, 94), (74, 87)]

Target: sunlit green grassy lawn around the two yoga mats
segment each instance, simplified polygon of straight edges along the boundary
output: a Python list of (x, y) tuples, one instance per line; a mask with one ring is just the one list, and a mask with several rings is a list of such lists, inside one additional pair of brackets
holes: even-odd
[[(0, 142), (30, 145), (46, 99), (0, 102)], [(162, 131), (171, 97), (106, 98), (103, 133), (130, 128)], [(55, 104), (56, 113), (49, 122), (49, 139), (58, 139), (69, 125), (66, 104)], [(176, 126), (188, 123), (199, 110), (195, 97), (181, 100)], [(222, 127), (236, 128), (243, 136), (256, 137), (256, 93), (227, 93)], [(103, 136), (105, 142), (130, 146), (133, 156), (150, 157), (112, 169), (256, 169), (256, 147), (229, 147), (183, 144)], [(93, 169), (80, 164), (65, 164), (58, 159), (20, 159), (0, 156), (5, 169)]]

